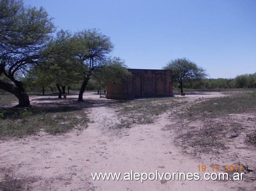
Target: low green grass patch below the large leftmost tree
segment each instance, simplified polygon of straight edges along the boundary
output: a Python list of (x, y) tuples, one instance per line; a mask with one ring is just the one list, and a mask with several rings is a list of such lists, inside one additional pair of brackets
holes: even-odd
[(65, 106), (31, 107), (19, 110), (17, 108), (1, 108), (0, 113), (0, 137), (17, 136), (21, 138), (40, 130), (56, 135), (74, 128), (83, 130), (89, 122), (84, 111)]

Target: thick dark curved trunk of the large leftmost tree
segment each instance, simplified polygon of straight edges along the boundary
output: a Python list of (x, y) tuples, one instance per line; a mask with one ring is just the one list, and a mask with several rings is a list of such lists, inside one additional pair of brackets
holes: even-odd
[(19, 104), (17, 105), (17, 107), (30, 107), (29, 97), (26, 94), (26, 92), (2, 80), (0, 80), (0, 89), (3, 89), (11, 94), (14, 94), (18, 98)]

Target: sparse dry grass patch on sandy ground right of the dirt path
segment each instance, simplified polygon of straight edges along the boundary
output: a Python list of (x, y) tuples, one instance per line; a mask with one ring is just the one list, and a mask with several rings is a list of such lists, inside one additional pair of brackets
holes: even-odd
[[(225, 170), (225, 165), (255, 169), (255, 91), (196, 101), (177, 115), (180, 122), (173, 127), (185, 153), (220, 165), (221, 171)], [(255, 171), (244, 172), (247, 180), (255, 177)]]

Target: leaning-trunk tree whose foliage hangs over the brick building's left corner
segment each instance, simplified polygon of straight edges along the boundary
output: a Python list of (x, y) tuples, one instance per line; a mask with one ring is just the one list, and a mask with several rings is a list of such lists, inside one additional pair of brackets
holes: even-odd
[(99, 82), (106, 82), (108, 79), (119, 79), (128, 71), (123, 67), (120, 58), (110, 58), (109, 53), (114, 45), (110, 38), (103, 35), (99, 30), (89, 29), (78, 32), (74, 36), (77, 42), (76, 56), (84, 67), (83, 83), (79, 92), (78, 101), (83, 101), (83, 93), (88, 81), (93, 78)]

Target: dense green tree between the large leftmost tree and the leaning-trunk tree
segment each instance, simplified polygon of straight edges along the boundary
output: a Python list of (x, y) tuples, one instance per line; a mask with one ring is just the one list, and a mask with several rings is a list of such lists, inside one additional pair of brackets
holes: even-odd
[[(55, 83), (59, 91), (59, 98), (62, 93), (65, 94), (67, 85), (77, 83), (82, 79), (83, 68), (75, 55), (76, 43), (71, 36), (69, 31), (57, 32), (49, 47), (44, 50), (51, 55), (50, 59), (45, 60), (39, 67), (39, 77), (42, 76), (42, 73), (48, 75), (48, 79), (52, 76), (52, 82)], [(42, 79), (42, 81), (45, 80)]]

